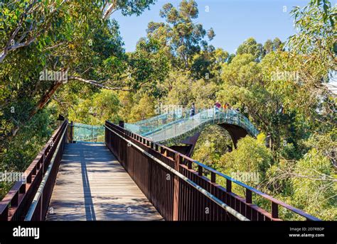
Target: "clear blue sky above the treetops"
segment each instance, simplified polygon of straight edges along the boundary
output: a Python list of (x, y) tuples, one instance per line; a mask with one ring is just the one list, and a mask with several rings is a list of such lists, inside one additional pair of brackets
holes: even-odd
[[(111, 18), (118, 21), (124, 48), (135, 49), (139, 38), (146, 36), (147, 24), (150, 21), (161, 22), (161, 7), (170, 2), (178, 6), (178, 0), (158, 0), (151, 10), (141, 16), (122, 16), (117, 11)], [(293, 35), (293, 19), (290, 11), (293, 6), (305, 6), (306, 0), (197, 0), (199, 16), (196, 23), (202, 23), (207, 30), (213, 27), (215, 38), (210, 42), (215, 48), (235, 52), (247, 38), (253, 37), (264, 43), (275, 37), (282, 41)], [(208, 7), (207, 7), (208, 6)], [(206, 11), (209, 9), (209, 11)]]

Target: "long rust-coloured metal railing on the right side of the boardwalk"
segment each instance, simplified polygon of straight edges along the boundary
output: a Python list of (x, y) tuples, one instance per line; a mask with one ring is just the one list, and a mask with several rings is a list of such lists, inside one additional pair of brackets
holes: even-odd
[[(235, 221), (245, 218), (281, 221), (279, 206), (306, 220), (319, 221), (319, 218), (109, 121), (106, 121), (105, 128), (105, 143), (109, 150), (168, 221)], [(206, 171), (210, 172), (210, 179), (205, 176)], [(226, 187), (216, 184), (216, 177), (223, 177)], [(232, 192), (233, 183), (245, 189), (245, 198)], [(270, 211), (253, 204), (252, 194), (269, 200)]]

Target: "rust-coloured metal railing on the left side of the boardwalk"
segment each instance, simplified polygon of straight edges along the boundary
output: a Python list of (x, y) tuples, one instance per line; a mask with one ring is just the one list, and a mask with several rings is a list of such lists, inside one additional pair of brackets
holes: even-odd
[[(48, 170), (50, 161), (53, 160), (53, 169), (46, 191), (43, 191), (43, 201), (38, 204), (38, 218), (43, 220), (48, 211), (50, 196), (53, 192), (55, 177), (58, 172), (58, 165), (63, 153), (66, 136), (63, 136), (68, 131), (68, 121), (63, 121), (62, 125), (53, 133), (48, 143), (43, 150), (38, 154), (35, 160), (29, 165), (23, 173), (26, 176), (26, 181), (16, 182), (8, 194), (0, 201), (0, 221), (23, 221), (31, 208), (34, 197), (41, 185), (44, 175)], [(61, 140), (62, 139), (62, 140)], [(58, 150), (56, 150), (59, 147)], [(55, 153), (55, 150), (57, 153)]]

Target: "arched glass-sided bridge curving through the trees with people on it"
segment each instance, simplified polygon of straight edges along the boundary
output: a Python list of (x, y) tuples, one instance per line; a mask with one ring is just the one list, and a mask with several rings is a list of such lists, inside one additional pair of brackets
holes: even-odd
[[(189, 116), (183, 109), (163, 113), (137, 123), (124, 123), (124, 128), (157, 143), (180, 143), (209, 124), (240, 128), (256, 137), (257, 128), (242, 113), (231, 109), (204, 109)], [(224, 126), (225, 127), (225, 126)]]

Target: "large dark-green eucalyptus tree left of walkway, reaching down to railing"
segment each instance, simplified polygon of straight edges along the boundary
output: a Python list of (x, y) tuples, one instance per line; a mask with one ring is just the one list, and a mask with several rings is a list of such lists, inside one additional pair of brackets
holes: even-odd
[[(118, 23), (111, 13), (105, 18), (113, 2), (1, 1), (1, 169), (22, 170), (36, 155), (60, 113), (57, 106), (46, 109), (51, 100), (66, 111), (78, 96), (129, 89), (118, 82), (129, 65)], [(117, 1), (114, 9), (128, 16), (153, 3)]]

